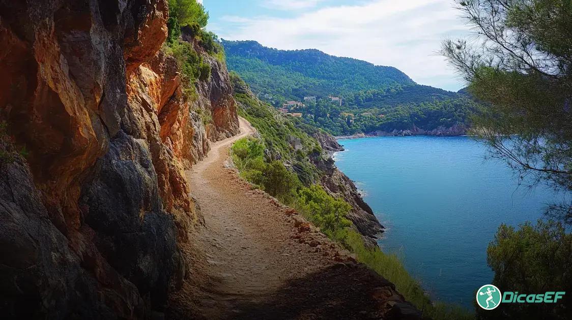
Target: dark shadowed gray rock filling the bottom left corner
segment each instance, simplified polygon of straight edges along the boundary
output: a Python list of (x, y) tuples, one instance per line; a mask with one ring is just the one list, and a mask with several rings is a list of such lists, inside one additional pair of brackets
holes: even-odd
[[(0, 313), (6, 319), (116, 318), (102, 288), (50, 222), (30, 170), (0, 164)], [(125, 281), (126, 303), (142, 303)]]

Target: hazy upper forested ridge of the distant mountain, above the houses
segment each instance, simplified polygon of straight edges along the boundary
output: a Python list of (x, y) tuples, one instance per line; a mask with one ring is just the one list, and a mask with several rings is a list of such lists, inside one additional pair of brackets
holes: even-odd
[(394, 67), (333, 57), (318, 50), (276, 50), (255, 41), (223, 41), (223, 45), (230, 69), (244, 77), (253, 90), (271, 93), (264, 89), (272, 85), (276, 94), (289, 99), (414, 83)]

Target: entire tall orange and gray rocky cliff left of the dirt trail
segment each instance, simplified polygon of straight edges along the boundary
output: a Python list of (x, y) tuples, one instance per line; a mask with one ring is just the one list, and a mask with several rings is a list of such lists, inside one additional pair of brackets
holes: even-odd
[(0, 0), (0, 122), (26, 150), (0, 157), (3, 317), (153, 318), (184, 277), (183, 170), (238, 125), (196, 44), (212, 75), (182, 95), (167, 18), (166, 0)]

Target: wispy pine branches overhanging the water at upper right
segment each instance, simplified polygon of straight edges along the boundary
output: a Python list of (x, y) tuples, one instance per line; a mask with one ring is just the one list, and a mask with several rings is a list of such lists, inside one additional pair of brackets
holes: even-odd
[[(459, 1), (459, 10), (484, 46), (448, 40), (442, 54), (490, 104), (476, 133), (525, 183), (572, 193), (572, 2)], [(572, 224), (572, 203), (549, 215)]]

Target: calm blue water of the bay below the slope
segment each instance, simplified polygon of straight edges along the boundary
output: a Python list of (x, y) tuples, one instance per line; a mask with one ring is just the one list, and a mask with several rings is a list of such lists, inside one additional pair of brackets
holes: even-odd
[(505, 163), (488, 160), (470, 137), (340, 140), (336, 164), (363, 190), (387, 227), (379, 245), (403, 258), (432, 298), (472, 309), (491, 282), (486, 249), (501, 223), (536, 221), (555, 199), (546, 187), (518, 187)]

